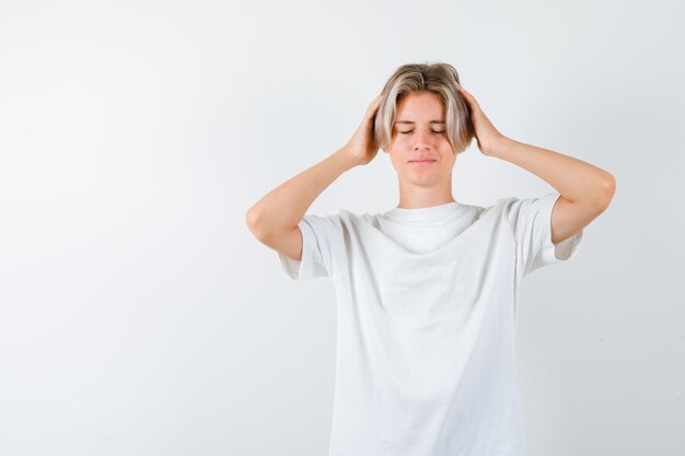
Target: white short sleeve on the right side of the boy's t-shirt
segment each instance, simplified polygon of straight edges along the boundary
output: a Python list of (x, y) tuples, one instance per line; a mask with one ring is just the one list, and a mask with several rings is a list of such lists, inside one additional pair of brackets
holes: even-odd
[(543, 197), (507, 200), (504, 211), (513, 231), (521, 277), (544, 266), (568, 261), (580, 248), (582, 230), (557, 245), (552, 242), (552, 211), (560, 196), (553, 191)]

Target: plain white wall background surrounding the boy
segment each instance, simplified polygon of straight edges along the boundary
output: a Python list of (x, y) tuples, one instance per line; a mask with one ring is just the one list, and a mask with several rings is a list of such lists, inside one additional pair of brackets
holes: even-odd
[[(0, 2), (0, 454), (324, 455), (327, 278), (245, 212), (342, 147), (394, 70), (453, 65), (506, 136), (616, 177), (526, 279), (532, 456), (685, 454), (676, 1)], [(554, 190), (475, 141), (457, 201)], [(398, 202), (386, 154), (311, 213)]]

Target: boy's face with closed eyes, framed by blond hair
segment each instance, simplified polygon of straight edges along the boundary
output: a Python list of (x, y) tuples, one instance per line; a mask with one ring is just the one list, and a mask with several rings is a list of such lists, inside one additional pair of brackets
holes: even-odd
[(386, 152), (400, 183), (451, 185), (456, 155), (448, 141), (445, 108), (438, 95), (413, 92), (402, 98), (392, 135)]

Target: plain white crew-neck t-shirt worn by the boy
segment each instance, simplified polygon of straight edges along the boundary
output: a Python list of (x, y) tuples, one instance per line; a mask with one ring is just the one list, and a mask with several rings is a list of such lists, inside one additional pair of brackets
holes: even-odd
[(329, 277), (337, 358), (329, 456), (526, 455), (514, 360), (521, 280), (571, 259), (559, 198), (306, 214), (292, 279)]

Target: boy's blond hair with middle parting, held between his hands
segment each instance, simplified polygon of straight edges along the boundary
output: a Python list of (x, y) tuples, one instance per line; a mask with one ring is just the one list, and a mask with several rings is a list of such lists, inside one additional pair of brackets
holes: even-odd
[(458, 86), (458, 74), (449, 63), (407, 63), (397, 68), (383, 87), (383, 101), (374, 119), (373, 137), (379, 148), (387, 152), (392, 144), (393, 125), (402, 98), (411, 92), (431, 92), (445, 107), (445, 130), (453, 152), (463, 152), (475, 137), (475, 130), (468, 103)]

